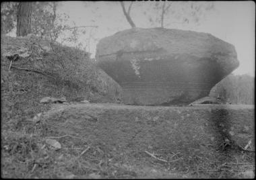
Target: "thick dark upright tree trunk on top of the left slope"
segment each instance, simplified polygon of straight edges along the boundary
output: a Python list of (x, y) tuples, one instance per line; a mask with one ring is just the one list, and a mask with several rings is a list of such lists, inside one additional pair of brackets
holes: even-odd
[(17, 12), (17, 36), (26, 36), (31, 30), (32, 3), (20, 2)]

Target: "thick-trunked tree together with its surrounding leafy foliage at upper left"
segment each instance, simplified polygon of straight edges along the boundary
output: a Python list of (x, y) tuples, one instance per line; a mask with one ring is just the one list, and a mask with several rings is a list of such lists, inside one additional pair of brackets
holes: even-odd
[[(86, 47), (90, 50), (90, 40), (98, 26), (76, 26), (69, 20), (69, 15), (57, 12), (62, 5), (57, 1), (40, 2), (5, 2), (1, 4), (1, 34), (13, 32), (16, 36), (34, 34), (37, 38), (44, 38), (61, 44), (72, 44), (83, 49), (78, 42), (79, 36), (86, 34)], [(18, 21), (18, 23), (17, 23)], [(88, 41), (88, 42), (87, 42)]]

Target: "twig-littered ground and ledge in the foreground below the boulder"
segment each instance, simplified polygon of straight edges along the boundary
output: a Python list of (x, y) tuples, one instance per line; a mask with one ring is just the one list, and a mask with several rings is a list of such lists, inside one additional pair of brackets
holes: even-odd
[(249, 105), (56, 104), (24, 130), (2, 131), (1, 176), (253, 178), (254, 117)]

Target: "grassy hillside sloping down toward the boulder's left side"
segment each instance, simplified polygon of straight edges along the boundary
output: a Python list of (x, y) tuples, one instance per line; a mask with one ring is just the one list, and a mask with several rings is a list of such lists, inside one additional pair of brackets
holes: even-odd
[[(19, 54), (16, 60), (14, 54)], [(14, 59), (11, 63), (11, 59)], [(11, 63), (11, 68), (9, 69)], [(28, 118), (49, 109), (42, 97), (68, 102), (117, 103), (121, 88), (97, 69), (86, 52), (33, 36), (1, 36), (1, 119), (22, 128)]]

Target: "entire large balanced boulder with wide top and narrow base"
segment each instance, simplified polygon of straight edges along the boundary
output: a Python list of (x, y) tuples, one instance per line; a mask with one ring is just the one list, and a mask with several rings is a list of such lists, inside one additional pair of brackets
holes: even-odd
[(189, 104), (238, 67), (236, 50), (211, 34), (132, 28), (100, 40), (98, 66), (134, 105)]

